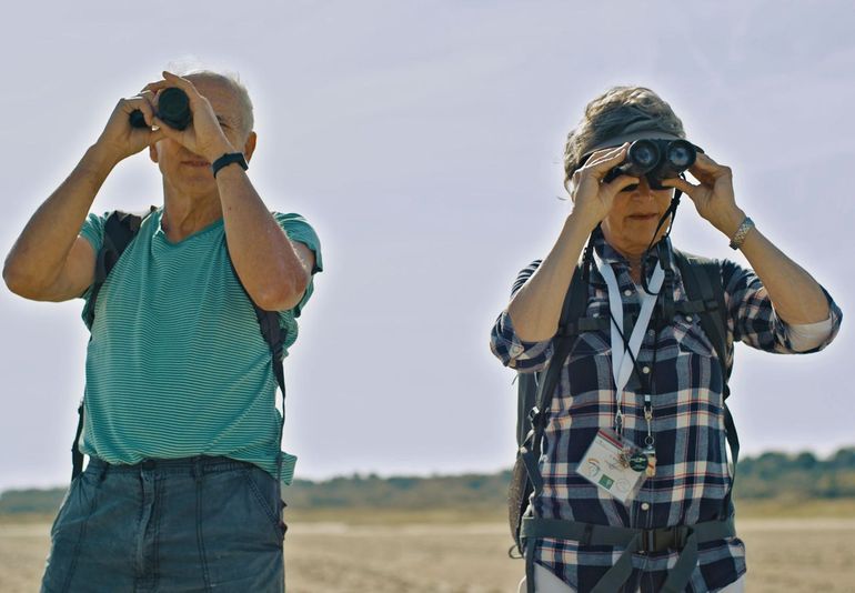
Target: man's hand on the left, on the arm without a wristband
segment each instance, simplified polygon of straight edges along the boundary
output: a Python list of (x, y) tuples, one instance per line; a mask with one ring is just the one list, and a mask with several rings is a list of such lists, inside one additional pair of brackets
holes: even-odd
[[(131, 113), (142, 112), (149, 128), (133, 128), (130, 122)], [(154, 121), (154, 93), (143, 90), (135, 97), (121, 99), (113, 109), (104, 131), (95, 141), (94, 149), (111, 164), (137, 154), (142, 149), (163, 138), (161, 130), (152, 130)]]

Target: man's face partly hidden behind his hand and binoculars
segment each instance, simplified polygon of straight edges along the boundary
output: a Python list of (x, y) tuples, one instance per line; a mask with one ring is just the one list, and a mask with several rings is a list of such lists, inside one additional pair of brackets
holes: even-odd
[[(243, 104), (231, 86), (218, 78), (188, 77), (200, 94), (213, 108), (223, 133), (235, 150), (251, 157), (254, 143), (250, 145), (248, 132), (242, 129)], [(253, 139), (254, 140), (254, 139)], [(174, 140), (165, 138), (150, 148), (151, 160), (158, 163), (164, 184), (188, 197), (217, 194), (217, 181), (211, 173), (211, 163)]]

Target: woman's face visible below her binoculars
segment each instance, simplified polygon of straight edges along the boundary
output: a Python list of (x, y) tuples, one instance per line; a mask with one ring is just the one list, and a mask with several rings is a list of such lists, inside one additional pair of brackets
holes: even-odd
[[(627, 257), (637, 258), (651, 244), (660, 219), (671, 205), (674, 190), (652, 190), (647, 179), (632, 191), (622, 191), (615, 195), (611, 212), (603, 220), (605, 240), (613, 248)], [(656, 234), (656, 241), (667, 231), (665, 222)]]

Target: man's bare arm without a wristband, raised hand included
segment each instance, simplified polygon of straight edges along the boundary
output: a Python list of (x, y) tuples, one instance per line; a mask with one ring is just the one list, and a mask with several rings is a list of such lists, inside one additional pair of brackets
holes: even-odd
[(119, 101), (98, 141), (32, 215), (6, 258), (3, 280), (9, 290), (36, 301), (67, 301), (92, 283), (95, 253), (78, 233), (113, 167), (162, 137), (129, 122), (130, 113), (139, 109), (151, 123), (151, 97), (148, 92)]

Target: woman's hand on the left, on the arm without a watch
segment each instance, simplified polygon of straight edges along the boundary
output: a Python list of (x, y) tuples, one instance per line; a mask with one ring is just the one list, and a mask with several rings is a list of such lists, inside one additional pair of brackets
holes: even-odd
[(570, 195), (573, 200), (572, 217), (593, 230), (612, 211), (614, 197), (624, 188), (638, 183), (638, 178), (620, 175), (607, 183), (603, 178), (626, 158), (630, 143), (603, 149), (591, 154), (587, 162), (576, 169), (571, 178)]

